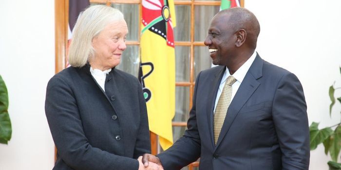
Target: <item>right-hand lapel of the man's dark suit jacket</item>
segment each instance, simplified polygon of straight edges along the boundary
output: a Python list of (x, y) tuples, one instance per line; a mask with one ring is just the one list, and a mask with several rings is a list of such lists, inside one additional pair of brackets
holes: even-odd
[(251, 97), (254, 91), (258, 88), (260, 83), (257, 79), (262, 77), (263, 60), (257, 54), (255, 60), (253, 61), (251, 67), (247, 71), (242, 84), (239, 86), (237, 93), (235, 94), (233, 100), (231, 101), (229, 108), (227, 110), (227, 115), (220, 132), (216, 148), (222, 142), (223, 138), (227, 134), (233, 120), (238, 115), (240, 109), (244, 106), (247, 100)]

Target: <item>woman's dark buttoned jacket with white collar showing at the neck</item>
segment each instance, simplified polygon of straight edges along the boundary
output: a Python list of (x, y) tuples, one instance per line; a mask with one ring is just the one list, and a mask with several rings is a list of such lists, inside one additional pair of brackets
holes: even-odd
[(90, 66), (69, 67), (51, 78), (45, 112), (57, 147), (54, 170), (137, 170), (150, 153), (146, 102), (132, 75), (112, 69), (105, 92)]

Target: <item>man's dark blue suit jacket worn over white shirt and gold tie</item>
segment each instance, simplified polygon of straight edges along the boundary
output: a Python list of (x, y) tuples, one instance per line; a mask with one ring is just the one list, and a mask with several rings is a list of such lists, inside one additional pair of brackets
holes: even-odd
[(308, 170), (309, 127), (297, 77), (257, 54), (227, 111), (217, 145), (213, 108), (226, 67), (199, 73), (188, 130), (157, 155), (165, 170), (200, 157), (200, 170)]

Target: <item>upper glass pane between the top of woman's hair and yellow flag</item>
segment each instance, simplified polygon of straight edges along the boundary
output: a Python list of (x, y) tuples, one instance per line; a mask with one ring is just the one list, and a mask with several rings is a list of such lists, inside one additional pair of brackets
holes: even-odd
[(127, 36), (128, 41), (137, 41), (138, 40), (138, 25), (139, 25), (139, 6), (138, 4), (124, 4), (124, 3), (113, 3), (112, 7), (120, 10), (124, 19), (127, 22), (129, 34)]

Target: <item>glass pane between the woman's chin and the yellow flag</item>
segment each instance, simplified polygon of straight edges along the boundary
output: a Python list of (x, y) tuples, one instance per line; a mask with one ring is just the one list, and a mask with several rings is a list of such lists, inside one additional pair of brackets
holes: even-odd
[(121, 63), (117, 68), (137, 77), (139, 62), (138, 46), (127, 46), (127, 49), (122, 53)]

